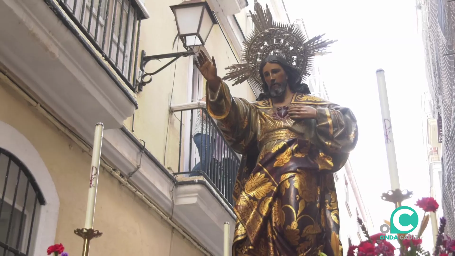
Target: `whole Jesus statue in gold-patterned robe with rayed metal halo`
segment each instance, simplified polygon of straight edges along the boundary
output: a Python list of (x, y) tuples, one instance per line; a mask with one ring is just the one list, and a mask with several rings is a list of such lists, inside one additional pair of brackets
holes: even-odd
[(231, 95), (214, 57), (200, 52), (195, 61), (207, 80), (208, 113), (243, 155), (233, 189), (233, 255), (342, 256), (333, 173), (357, 143), (357, 121), (302, 82), (309, 58), (333, 41), (306, 41), (257, 2), (252, 17), (257, 29), (245, 42), (245, 63), (229, 67), (224, 78), (258, 86), (256, 102)]

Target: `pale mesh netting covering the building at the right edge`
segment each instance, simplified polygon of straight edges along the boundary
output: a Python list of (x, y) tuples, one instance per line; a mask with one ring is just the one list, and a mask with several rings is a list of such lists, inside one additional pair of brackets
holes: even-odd
[(442, 117), (442, 207), (446, 232), (455, 236), (455, 0), (420, 0), (433, 117)]

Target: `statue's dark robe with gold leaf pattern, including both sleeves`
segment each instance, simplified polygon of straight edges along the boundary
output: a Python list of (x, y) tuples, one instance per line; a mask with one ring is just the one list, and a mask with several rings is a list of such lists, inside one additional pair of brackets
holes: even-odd
[(224, 83), (218, 92), (206, 88), (208, 113), (243, 155), (233, 193), (233, 255), (342, 256), (333, 173), (357, 143), (354, 114), (295, 93), (290, 105), (312, 106), (317, 118), (294, 121), (277, 115), (270, 99), (231, 97)]

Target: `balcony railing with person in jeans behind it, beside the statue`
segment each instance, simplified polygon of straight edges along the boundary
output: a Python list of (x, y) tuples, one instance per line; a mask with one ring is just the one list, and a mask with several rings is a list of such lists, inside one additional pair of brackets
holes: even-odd
[(182, 120), (178, 173), (190, 177), (203, 176), (232, 206), (240, 158), (208, 115), (205, 102), (171, 106), (171, 111)]

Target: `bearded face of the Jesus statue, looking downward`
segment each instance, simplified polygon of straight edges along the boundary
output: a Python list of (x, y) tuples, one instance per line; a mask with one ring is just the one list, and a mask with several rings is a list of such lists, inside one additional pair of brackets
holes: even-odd
[(262, 70), (268, 91), (272, 97), (281, 97), (286, 92), (288, 86), (288, 76), (283, 67), (277, 63), (267, 62)]

